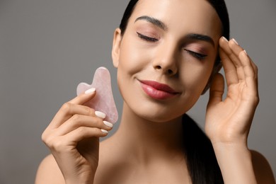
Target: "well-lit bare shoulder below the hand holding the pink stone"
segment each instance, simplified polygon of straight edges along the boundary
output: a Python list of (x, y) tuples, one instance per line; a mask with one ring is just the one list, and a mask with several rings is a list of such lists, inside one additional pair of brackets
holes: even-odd
[(35, 177), (35, 184), (46, 183), (64, 183), (62, 172), (57, 166), (57, 162), (54, 160), (52, 154), (43, 159), (38, 167), (38, 172)]

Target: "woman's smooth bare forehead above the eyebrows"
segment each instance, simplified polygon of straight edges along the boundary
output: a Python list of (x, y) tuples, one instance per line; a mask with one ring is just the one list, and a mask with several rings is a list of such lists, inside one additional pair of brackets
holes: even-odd
[(151, 16), (168, 26), (168, 30), (185, 30), (219, 38), (221, 23), (207, 0), (139, 0), (129, 22), (139, 16)]

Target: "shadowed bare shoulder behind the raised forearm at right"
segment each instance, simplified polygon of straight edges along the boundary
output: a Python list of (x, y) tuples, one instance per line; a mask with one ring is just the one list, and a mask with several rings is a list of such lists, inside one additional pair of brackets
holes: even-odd
[(275, 178), (273, 176), (272, 169), (268, 163), (268, 160), (265, 159), (265, 156), (254, 150), (251, 150), (251, 155), (253, 168), (258, 183), (275, 184)]

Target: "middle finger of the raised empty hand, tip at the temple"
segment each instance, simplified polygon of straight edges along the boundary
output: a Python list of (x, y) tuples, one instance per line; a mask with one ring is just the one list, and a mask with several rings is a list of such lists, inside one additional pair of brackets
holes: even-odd
[[(236, 74), (238, 76), (238, 80), (241, 81), (244, 79), (244, 73), (243, 68), (241, 66), (241, 61), (239, 60), (238, 56), (234, 51), (231, 49), (231, 47), (239, 47), (236, 44), (236, 41), (230, 40), (229, 42), (226, 40), (226, 38), (221, 38), (219, 40), (220, 46), (222, 50), (226, 53), (227, 57), (229, 57), (230, 61), (234, 64), (234, 67), (236, 67)], [(231, 47), (230, 47), (231, 45)]]

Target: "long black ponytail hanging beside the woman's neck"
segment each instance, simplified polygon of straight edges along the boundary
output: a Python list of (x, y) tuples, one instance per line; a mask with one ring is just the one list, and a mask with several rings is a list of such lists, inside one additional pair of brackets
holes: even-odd
[(183, 139), (190, 178), (194, 184), (224, 183), (211, 141), (188, 115), (183, 115)]

